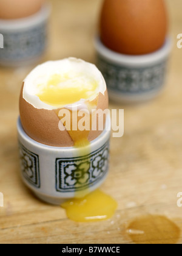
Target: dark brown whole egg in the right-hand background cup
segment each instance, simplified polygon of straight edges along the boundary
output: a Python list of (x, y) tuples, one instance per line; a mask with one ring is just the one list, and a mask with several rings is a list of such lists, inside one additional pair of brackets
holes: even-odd
[(161, 48), (167, 33), (163, 0), (105, 0), (101, 41), (121, 54), (148, 54)]

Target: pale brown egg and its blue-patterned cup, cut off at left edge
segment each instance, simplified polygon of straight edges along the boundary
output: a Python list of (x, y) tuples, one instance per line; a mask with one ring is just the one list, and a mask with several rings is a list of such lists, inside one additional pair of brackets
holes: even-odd
[(0, 34), (4, 38), (4, 48), (0, 51), (0, 65), (29, 65), (44, 54), (51, 7), (47, 2), (39, 6), (40, 2), (43, 1), (14, 1), (16, 8), (10, 5), (12, 1), (1, 2)]

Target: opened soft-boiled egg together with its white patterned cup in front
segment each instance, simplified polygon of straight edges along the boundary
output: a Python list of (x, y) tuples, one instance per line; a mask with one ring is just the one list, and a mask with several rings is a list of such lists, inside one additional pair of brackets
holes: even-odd
[[(18, 119), (21, 176), (36, 196), (61, 204), (83, 197), (104, 182), (109, 170), (110, 116), (101, 112), (107, 108), (102, 74), (83, 60), (46, 62), (25, 78)], [(70, 113), (70, 129), (60, 112)], [(102, 120), (103, 129), (96, 123), (93, 130), (90, 124), (89, 129), (77, 129), (81, 116), (76, 120), (73, 113), (78, 112), (87, 115), (90, 123)]]

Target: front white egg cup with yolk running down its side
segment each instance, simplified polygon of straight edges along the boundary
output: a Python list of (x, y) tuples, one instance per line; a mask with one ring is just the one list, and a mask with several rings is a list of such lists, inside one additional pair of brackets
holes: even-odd
[(56, 148), (32, 140), (18, 119), (21, 177), (42, 201), (61, 204), (83, 190), (96, 190), (109, 171), (110, 117), (106, 128), (89, 146), (89, 155), (78, 149)]

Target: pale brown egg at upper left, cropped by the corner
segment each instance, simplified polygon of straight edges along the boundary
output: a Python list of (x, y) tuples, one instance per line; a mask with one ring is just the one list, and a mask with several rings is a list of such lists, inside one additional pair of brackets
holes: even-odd
[(18, 19), (35, 14), (44, 0), (1, 0), (0, 19)]

